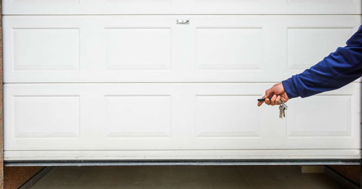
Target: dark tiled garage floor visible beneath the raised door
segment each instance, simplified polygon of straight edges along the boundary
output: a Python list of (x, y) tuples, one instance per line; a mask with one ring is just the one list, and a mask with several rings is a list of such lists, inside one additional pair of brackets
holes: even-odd
[(299, 166), (55, 167), (33, 189), (342, 189)]

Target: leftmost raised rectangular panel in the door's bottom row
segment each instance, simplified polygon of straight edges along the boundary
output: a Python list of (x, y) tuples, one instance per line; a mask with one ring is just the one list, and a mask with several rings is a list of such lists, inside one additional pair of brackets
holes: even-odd
[(79, 138), (79, 96), (13, 96), (13, 139)]

